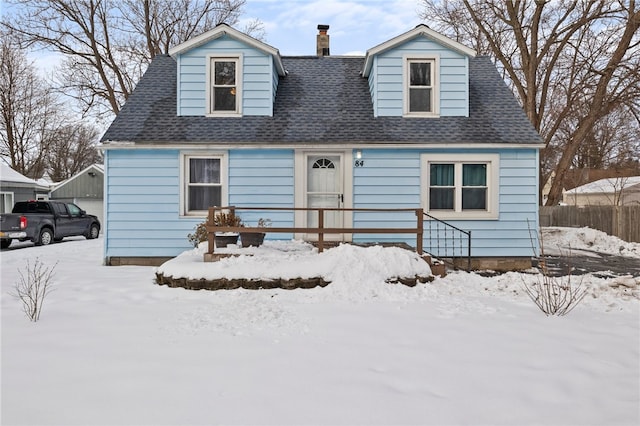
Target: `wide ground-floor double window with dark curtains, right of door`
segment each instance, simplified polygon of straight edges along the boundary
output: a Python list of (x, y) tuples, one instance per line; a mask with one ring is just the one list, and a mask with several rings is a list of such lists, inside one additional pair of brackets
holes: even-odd
[(423, 155), (423, 197), (437, 218), (497, 218), (498, 156)]

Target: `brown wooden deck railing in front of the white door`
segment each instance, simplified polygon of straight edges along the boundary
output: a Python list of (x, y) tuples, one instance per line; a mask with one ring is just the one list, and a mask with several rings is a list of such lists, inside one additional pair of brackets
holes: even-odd
[[(317, 227), (228, 227), (228, 226), (215, 226), (214, 218), (216, 212), (222, 211), (288, 211), (297, 212), (314, 211), (318, 214), (318, 226)], [(415, 228), (344, 228), (344, 227), (325, 227), (324, 214), (329, 211), (341, 211), (341, 212), (372, 212), (372, 213), (401, 213), (401, 212), (414, 212), (416, 216)], [(361, 209), (344, 209), (344, 208), (311, 208), (311, 207), (209, 207), (209, 215), (207, 217), (207, 233), (208, 233), (208, 254), (214, 253), (215, 242), (214, 234), (216, 232), (279, 232), (279, 233), (304, 233), (304, 234), (317, 234), (318, 235), (318, 251), (322, 252), (324, 249), (324, 236), (325, 234), (416, 234), (416, 252), (422, 255), (422, 237), (423, 237), (423, 209), (418, 208), (397, 208), (397, 209), (374, 209), (374, 208), (361, 208)]]

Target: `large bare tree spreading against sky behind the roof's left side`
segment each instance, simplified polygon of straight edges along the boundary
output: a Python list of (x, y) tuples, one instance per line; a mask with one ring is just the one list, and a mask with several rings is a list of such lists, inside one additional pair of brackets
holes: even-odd
[[(13, 0), (4, 25), (27, 45), (63, 54), (63, 83), (84, 113), (111, 116), (153, 57), (225, 22), (246, 0)], [(256, 30), (259, 30), (260, 26)]]

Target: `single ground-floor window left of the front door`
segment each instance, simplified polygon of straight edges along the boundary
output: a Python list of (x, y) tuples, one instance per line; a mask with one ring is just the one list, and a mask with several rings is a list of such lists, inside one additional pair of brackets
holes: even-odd
[(225, 201), (225, 161), (223, 156), (184, 157), (184, 213), (206, 215), (209, 207)]

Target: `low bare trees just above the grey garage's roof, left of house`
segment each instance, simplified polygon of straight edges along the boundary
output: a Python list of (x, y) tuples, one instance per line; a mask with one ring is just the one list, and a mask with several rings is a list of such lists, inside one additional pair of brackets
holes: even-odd
[(53, 136), (48, 157), (49, 177), (61, 182), (92, 164), (102, 163), (97, 149), (100, 131), (87, 124), (67, 124)]

